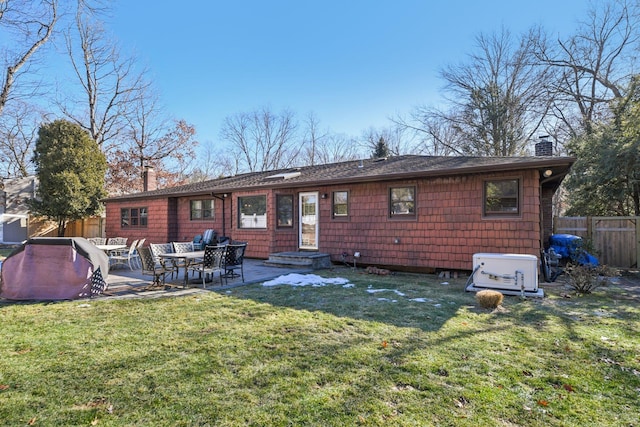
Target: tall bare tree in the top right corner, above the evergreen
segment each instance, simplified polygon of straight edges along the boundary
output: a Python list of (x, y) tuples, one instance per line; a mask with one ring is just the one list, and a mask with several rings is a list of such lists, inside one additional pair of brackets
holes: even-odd
[(538, 39), (538, 59), (558, 71), (552, 112), (570, 135), (592, 133), (594, 123), (611, 117), (611, 101), (625, 95), (636, 71), (639, 12), (633, 1), (593, 3), (574, 35)]

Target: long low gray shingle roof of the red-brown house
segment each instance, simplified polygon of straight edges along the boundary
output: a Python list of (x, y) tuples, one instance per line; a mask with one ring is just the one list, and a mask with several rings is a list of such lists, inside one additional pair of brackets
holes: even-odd
[(250, 172), (171, 188), (162, 188), (106, 200), (222, 194), (259, 188), (305, 188), (330, 184), (391, 181), (407, 178), (464, 175), (524, 169), (553, 170), (562, 180), (575, 162), (573, 157), (453, 157), (405, 155), (386, 159), (353, 160), (324, 165)]

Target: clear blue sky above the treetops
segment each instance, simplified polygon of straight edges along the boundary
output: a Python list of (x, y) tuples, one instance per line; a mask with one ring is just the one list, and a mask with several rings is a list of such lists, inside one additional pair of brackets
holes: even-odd
[(441, 102), (438, 71), (480, 32), (571, 33), (585, 0), (120, 0), (108, 24), (167, 111), (216, 143), (225, 117), (268, 106), (359, 136)]

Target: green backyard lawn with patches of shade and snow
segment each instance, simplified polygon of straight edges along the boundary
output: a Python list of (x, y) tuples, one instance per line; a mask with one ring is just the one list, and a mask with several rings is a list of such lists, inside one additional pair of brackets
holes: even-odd
[(614, 286), (488, 311), (461, 279), (319, 274), (355, 286), (0, 304), (0, 424), (637, 425)]

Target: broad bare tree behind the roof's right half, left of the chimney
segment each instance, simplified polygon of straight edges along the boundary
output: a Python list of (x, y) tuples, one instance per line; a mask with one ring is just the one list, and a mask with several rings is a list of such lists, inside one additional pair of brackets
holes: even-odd
[(409, 122), (396, 123), (415, 133), (422, 152), (525, 154), (551, 105), (549, 68), (534, 60), (536, 31), (480, 34), (467, 62), (441, 71), (447, 109), (419, 107)]

